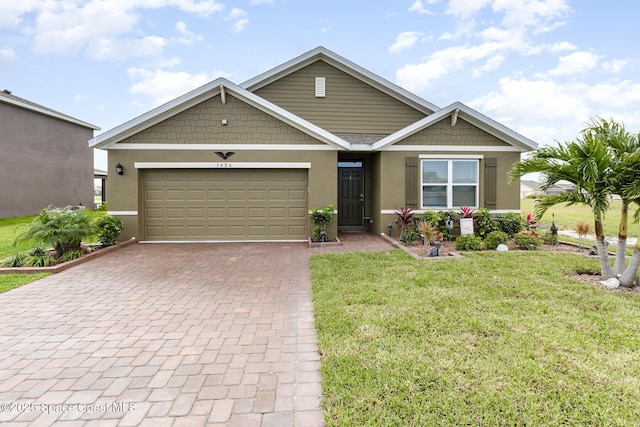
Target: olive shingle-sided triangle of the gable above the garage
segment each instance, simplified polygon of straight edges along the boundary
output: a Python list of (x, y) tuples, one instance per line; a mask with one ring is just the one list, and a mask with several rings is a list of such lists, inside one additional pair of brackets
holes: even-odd
[[(227, 124), (223, 125), (222, 120)], [(226, 95), (201, 102), (119, 144), (324, 144), (245, 102)]]

